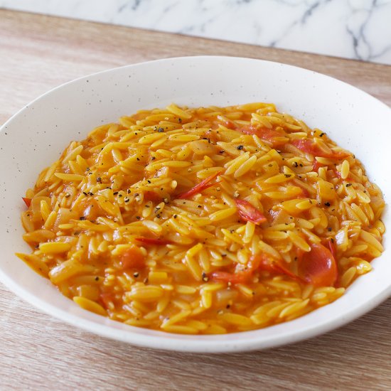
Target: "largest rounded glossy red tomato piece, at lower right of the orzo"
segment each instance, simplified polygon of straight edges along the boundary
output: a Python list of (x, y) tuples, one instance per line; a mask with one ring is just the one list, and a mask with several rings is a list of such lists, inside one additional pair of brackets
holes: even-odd
[(299, 260), (299, 274), (307, 283), (314, 286), (336, 284), (338, 267), (331, 250), (320, 243), (312, 243), (311, 251), (304, 252)]

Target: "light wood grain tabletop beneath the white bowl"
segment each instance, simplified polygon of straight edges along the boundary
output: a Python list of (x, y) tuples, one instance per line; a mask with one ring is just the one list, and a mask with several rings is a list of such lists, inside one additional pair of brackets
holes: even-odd
[[(391, 67), (0, 10), (0, 123), (62, 82), (181, 55), (326, 73), (391, 105)], [(1, 185), (0, 185), (1, 187)], [(309, 341), (226, 355), (136, 348), (80, 331), (0, 284), (0, 390), (391, 390), (391, 300)]]

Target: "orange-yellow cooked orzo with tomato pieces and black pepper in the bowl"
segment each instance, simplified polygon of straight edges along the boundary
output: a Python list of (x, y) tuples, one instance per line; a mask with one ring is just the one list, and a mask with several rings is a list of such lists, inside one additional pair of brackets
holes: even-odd
[(83, 309), (171, 333), (302, 316), (383, 250), (360, 161), (269, 103), (122, 117), (71, 142), (24, 200), (18, 257)]

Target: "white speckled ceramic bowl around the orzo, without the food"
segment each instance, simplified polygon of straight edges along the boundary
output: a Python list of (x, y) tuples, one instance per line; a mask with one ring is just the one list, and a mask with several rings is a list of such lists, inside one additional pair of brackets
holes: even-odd
[[(0, 280), (48, 314), (75, 326), (139, 346), (191, 352), (233, 352), (293, 343), (342, 326), (391, 294), (391, 250), (373, 261), (333, 304), (294, 321), (257, 331), (223, 336), (183, 336), (135, 328), (81, 309), (47, 279), (16, 258), (28, 252), (19, 215), (21, 196), (38, 173), (70, 140), (84, 139), (93, 127), (138, 109), (178, 105), (235, 105), (274, 102), (327, 132), (363, 161), (371, 180), (391, 196), (391, 110), (344, 82), (290, 65), (230, 57), (170, 58), (129, 65), (62, 85), (21, 109), (0, 132)], [(390, 225), (390, 212), (383, 220)], [(22, 321), (22, 320), (21, 320)]]

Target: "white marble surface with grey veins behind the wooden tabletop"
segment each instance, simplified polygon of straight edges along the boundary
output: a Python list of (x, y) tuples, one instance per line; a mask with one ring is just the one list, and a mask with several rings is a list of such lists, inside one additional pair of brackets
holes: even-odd
[(391, 0), (0, 0), (0, 7), (391, 65)]

